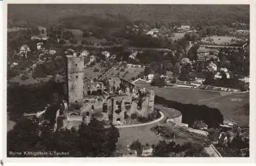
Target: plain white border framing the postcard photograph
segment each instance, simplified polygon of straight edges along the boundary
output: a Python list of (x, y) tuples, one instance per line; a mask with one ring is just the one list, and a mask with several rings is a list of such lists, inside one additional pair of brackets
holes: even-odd
[[(3, 16), (1, 19), (3, 19), (3, 25), (1, 27), (1, 30), (3, 32), (3, 38), (1, 38), (3, 41), (0, 43), (3, 43), (2, 45), (0, 44), (0, 50), (3, 50), (2, 56), (1, 57), (1, 62), (2, 62), (2, 69), (3, 72), (1, 72), (1, 80), (0, 84), (3, 92), (3, 95), (1, 95), (0, 101), (2, 102), (1, 105), (3, 105), (3, 114), (0, 114), (0, 116), (3, 116), (3, 123), (2, 130), (0, 129), (1, 132), (3, 132), (3, 136), (1, 137), (2, 141), (0, 141), (3, 147), (0, 149), (0, 159), (3, 159), (4, 163), (9, 163), (9, 162), (18, 162), (18, 163), (24, 163), (24, 162), (33, 162), (33, 163), (38, 163), (38, 162), (65, 162), (65, 163), (81, 163), (81, 162), (86, 162), (86, 164), (106, 164), (106, 163), (129, 163), (135, 164), (136, 163), (252, 163), (255, 162), (255, 1), (249, 1), (249, 0), (243, 0), (243, 1), (227, 1), (227, 0), (215, 0), (215, 1), (203, 1), (203, 0), (197, 0), (197, 1), (186, 1), (186, 0), (172, 0), (172, 1), (153, 1), (153, 0), (140, 0), (140, 1), (135, 1), (135, 0), (130, 0), (130, 1), (108, 1), (108, 0), (95, 0), (95, 1), (82, 1), (82, 0), (74, 0), (74, 1), (67, 1), (67, 0), (4, 0), (1, 2), (1, 5), (3, 7), (3, 10), (1, 10), (1, 14)], [(119, 157), (119, 158), (7, 158), (6, 154), (6, 136), (7, 136), (7, 112), (6, 112), (6, 84), (7, 84), (7, 77), (6, 77), (6, 52), (7, 52), (7, 4), (102, 4), (102, 3), (108, 3), (108, 4), (247, 4), (250, 5), (250, 157), (245, 158), (245, 157), (222, 157), (222, 158), (150, 158), (150, 157)], [(1, 49), (2, 48), (2, 49)], [(3, 76), (2, 76), (3, 74)]]

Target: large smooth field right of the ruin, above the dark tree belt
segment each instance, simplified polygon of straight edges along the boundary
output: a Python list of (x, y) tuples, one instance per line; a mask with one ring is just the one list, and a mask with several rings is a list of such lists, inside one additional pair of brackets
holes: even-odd
[(240, 125), (249, 125), (249, 110), (244, 105), (249, 103), (249, 93), (222, 93), (176, 88), (150, 88), (156, 95), (167, 100), (181, 103), (194, 103), (218, 108), (224, 120), (228, 119)]

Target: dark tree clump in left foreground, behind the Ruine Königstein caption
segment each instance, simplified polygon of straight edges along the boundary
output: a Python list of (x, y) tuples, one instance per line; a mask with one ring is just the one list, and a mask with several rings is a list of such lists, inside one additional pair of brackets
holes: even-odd
[(63, 155), (43, 154), (33, 157), (111, 157), (115, 155), (119, 136), (115, 126), (105, 128), (103, 122), (95, 118), (89, 124), (82, 123), (78, 131), (72, 128), (57, 129), (55, 132), (48, 125), (38, 125), (36, 118), (26, 118), (18, 121), (7, 133), (7, 151), (66, 152)]

